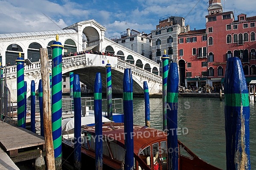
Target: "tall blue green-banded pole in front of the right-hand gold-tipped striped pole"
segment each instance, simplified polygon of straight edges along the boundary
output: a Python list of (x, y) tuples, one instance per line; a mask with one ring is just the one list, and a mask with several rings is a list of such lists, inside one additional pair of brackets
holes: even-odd
[(177, 110), (178, 110), (178, 88), (179, 74), (177, 63), (169, 66), (167, 78), (167, 148), (168, 148), (168, 169), (178, 169), (178, 137), (177, 137)]

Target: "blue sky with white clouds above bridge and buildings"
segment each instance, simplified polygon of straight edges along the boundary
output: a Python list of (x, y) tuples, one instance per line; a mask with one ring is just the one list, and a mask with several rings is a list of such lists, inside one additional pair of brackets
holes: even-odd
[[(221, 0), (224, 12), (255, 16), (254, 0)], [(0, 34), (63, 29), (94, 19), (119, 36), (127, 28), (151, 33), (165, 15), (185, 18), (190, 29), (205, 29), (209, 0), (0, 0)], [(245, 6), (245, 7), (244, 7)]]

